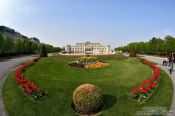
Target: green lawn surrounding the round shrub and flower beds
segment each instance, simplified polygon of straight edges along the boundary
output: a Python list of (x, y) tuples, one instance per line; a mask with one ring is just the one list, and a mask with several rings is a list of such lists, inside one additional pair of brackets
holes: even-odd
[(134, 116), (143, 106), (169, 108), (172, 99), (172, 82), (165, 72), (157, 91), (143, 105), (130, 100), (130, 91), (152, 75), (152, 69), (135, 58), (115, 56), (100, 58), (110, 67), (102, 69), (79, 69), (68, 66), (73, 58), (42, 58), (26, 72), (25, 76), (48, 91), (41, 103), (35, 103), (22, 95), (10, 75), (3, 88), (5, 107), (10, 116), (72, 116), (72, 93), (77, 86), (92, 83), (99, 86), (104, 94), (105, 109), (102, 116)]

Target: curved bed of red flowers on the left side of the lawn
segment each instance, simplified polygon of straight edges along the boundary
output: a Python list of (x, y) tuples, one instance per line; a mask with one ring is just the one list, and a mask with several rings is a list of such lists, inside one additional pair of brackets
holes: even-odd
[(33, 59), (32, 61), (24, 63), (22, 66), (16, 69), (15, 79), (21, 88), (22, 92), (25, 93), (26, 96), (30, 96), (34, 100), (39, 100), (41, 97), (45, 95), (45, 90), (38, 88), (33, 82), (27, 80), (24, 77), (23, 72), (27, 67), (31, 66), (34, 62), (37, 62), (40, 57)]

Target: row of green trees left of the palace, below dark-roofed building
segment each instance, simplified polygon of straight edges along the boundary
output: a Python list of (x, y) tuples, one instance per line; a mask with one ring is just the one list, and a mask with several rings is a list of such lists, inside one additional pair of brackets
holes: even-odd
[(3, 35), (0, 33), (0, 55), (6, 55), (10, 53), (37, 53), (40, 51), (42, 46), (45, 46), (47, 52), (61, 51), (61, 48), (59, 47), (53, 47), (49, 44), (36, 43), (27, 39), (16, 39), (14, 41), (11, 37), (3, 37)]

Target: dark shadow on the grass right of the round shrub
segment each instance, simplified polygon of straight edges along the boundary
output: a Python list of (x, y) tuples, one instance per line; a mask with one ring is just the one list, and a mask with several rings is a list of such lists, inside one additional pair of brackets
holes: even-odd
[(103, 94), (104, 110), (113, 107), (117, 103), (117, 98), (110, 94)]

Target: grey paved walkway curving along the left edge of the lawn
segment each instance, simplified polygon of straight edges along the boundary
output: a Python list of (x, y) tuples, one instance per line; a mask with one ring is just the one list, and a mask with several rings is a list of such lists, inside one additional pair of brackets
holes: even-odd
[(7, 75), (20, 63), (32, 59), (31, 56), (19, 57), (0, 61), (0, 116), (7, 116), (7, 112), (3, 104), (2, 88)]

